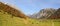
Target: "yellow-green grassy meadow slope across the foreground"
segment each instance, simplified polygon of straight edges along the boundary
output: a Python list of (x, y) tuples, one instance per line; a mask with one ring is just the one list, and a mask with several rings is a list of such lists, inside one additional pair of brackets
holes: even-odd
[[(53, 22), (54, 21), (54, 22)], [(8, 14), (7, 12), (0, 12), (0, 26), (60, 26), (59, 20), (38, 21), (36, 19), (29, 19), (28, 24), (24, 24), (23, 19)]]

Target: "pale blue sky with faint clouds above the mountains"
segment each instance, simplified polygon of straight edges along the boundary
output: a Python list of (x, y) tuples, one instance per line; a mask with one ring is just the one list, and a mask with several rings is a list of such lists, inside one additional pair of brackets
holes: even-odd
[(0, 0), (14, 4), (26, 15), (39, 12), (43, 8), (60, 8), (60, 0)]

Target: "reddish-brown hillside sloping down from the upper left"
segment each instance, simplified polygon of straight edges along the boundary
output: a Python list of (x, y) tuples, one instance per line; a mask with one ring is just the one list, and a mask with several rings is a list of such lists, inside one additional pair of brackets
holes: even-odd
[(0, 10), (3, 10), (3, 11), (5, 11), (13, 16), (17, 16), (17, 17), (24, 18), (24, 19), (28, 18), (28, 16), (26, 16), (20, 10), (17, 10), (16, 8), (11, 7), (11, 6), (4, 4), (2, 2), (0, 2)]

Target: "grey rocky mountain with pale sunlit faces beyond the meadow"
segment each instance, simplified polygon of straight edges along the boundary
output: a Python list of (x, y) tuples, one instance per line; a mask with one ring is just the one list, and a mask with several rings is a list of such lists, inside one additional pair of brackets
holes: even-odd
[(36, 18), (36, 19), (45, 19), (51, 16), (56, 11), (57, 9), (54, 9), (54, 8), (46, 8), (46, 9), (40, 10), (38, 13), (34, 13), (30, 17)]

